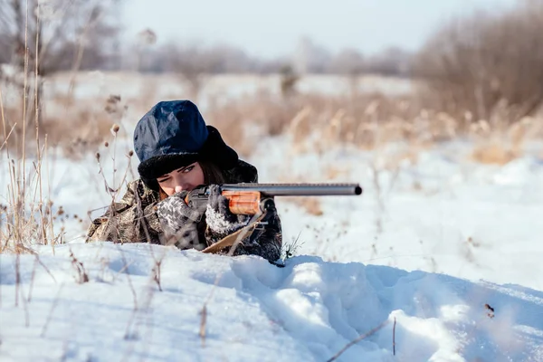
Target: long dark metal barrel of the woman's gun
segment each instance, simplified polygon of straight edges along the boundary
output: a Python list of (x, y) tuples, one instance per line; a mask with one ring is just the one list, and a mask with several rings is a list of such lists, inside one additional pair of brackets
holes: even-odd
[(271, 196), (360, 195), (358, 184), (224, 184), (225, 191), (260, 191)]

